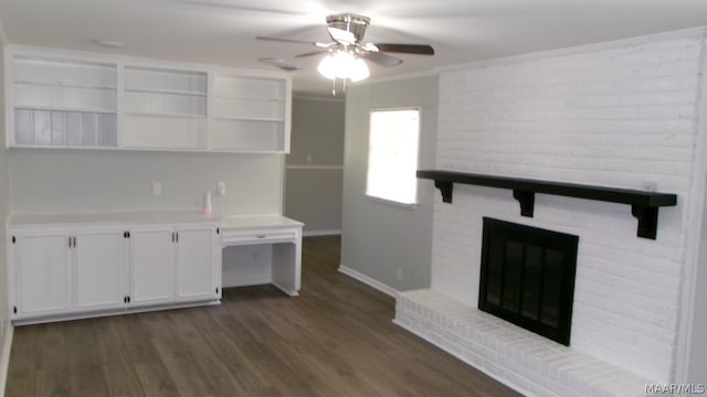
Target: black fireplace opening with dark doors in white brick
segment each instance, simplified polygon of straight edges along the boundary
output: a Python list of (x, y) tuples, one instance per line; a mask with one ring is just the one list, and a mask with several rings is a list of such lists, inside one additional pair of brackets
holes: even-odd
[(484, 217), (478, 309), (569, 346), (578, 243)]

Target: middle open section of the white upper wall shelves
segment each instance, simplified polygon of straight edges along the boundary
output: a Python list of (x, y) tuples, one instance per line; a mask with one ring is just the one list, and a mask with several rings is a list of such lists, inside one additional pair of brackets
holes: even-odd
[(207, 149), (204, 72), (126, 66), (123, 146)]

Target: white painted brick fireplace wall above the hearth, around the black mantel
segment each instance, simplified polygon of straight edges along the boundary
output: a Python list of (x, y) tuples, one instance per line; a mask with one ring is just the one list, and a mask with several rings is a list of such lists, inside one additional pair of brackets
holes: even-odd
[(636, 237), (627, 205), (538, 194), (527, 218), (510, 191), (456, 184), (451, 205), (435, 192), (432, 289), (476, 305), (483, 216), (579, 235), (572, 348), (669, 380), (704, 46), (695, 31), (442, 72), (439, 169), (651, 182), (678, 205), (659, 210), (651, 240)]

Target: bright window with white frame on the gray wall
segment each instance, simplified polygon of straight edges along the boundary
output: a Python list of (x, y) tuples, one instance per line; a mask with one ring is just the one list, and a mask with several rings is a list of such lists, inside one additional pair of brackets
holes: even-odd
[(416, 204), (420, 109), (371, 111), (369, 138), (366, 194)]

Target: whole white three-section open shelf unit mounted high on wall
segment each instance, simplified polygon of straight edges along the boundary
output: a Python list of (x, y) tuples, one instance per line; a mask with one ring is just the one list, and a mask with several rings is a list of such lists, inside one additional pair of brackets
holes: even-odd
[(286, 74), (6, 50), (9, 147), (289, 152)]

